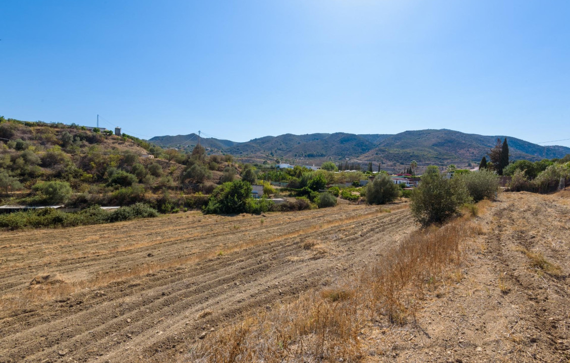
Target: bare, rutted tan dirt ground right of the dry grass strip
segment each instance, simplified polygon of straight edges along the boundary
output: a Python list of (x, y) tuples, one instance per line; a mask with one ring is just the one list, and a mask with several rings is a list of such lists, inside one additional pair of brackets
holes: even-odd
[(503, 193), (477, 219), (483, 234), (419, 327), (370, 324), (365, 361), (570, 360), (570, 193)]

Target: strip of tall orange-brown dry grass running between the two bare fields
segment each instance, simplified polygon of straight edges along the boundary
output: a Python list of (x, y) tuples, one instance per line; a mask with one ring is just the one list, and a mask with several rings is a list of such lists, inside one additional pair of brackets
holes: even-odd
[[(198, 341), (182, 361), (360, 361), (364, 324), (415, 323), (426, 291), (441, 283), (446, 272), (459, 271), (462, 240), (481, 233), (467, 217), (418, 230), (382, 264), (346, 286), (303, 293), (291, 303), (276, 304), (241, 324), (219, 329)], [(310, 250), (315, 244), (306, 242), (303, 248)]]

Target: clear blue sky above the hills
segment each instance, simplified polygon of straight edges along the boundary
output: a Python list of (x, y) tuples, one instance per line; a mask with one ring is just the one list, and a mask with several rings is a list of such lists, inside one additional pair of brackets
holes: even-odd
[(99, 113), (143, 138), (570, 138), (569, 18), (568, 0), (3, 0), (0, 115)]

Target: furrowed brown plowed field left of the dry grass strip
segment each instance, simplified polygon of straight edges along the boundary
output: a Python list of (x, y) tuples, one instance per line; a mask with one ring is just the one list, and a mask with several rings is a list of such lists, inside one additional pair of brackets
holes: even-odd
[(377, 260), (416, 228), (392, 206), (184, 213), (0, 233), (0, 361), (146, 360)]

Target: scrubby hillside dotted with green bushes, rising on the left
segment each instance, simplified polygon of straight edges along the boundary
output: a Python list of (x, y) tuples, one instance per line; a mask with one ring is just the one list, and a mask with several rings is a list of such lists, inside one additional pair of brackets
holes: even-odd
[[(211, 191), (226, 167), (239, 170), (231, 156), (172, 151), (125, 134), (0, 116), (0, 205), (84, 209), (145, 202), (169, 213), (200, 207), (205, 198), (186, 198), (180, 191)], [(184, 174), (204, 163), (200, 182)]]

